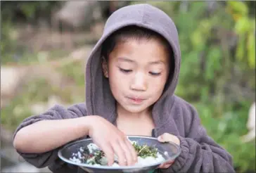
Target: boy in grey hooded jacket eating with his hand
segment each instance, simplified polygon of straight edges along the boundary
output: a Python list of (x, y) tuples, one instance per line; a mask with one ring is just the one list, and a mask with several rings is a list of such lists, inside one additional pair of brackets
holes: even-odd
[[(126, 6), (108, 18), (86, 71), (86, 105), (56, 105), (24, 120), (14, 134), (18, 153), (52, 172), (82, 172), (58, 159), (60, 147), (90, 136), (108, 164), (134, 165), (126, 135), (158, 137), (181, 147), (160, 172), (234, 172), (231, 155), (207, 136), (192, 105), (174, 95), (181, 54), (177, 29), (148, 4)], [(72, 132), (72, 133), (70, 133)]]

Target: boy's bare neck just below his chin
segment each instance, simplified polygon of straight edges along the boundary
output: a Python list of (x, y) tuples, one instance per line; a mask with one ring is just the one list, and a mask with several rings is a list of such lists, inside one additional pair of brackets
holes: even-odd
[(117, 104), (117, 117), (121, 118), (122, 120), (138, 120), (145, 117), (151, 117), (151, 108), (147, 108), (139, 113), (130, 113), (122, 108), (121, 105)]

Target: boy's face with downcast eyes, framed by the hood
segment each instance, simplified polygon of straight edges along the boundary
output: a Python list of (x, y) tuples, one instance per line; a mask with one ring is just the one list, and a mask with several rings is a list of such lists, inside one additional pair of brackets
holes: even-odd
[(157, 39), (120, 42), (103, 63), (117, 106), (141, 113), (158, 101), (169, 73), (169, 57)]

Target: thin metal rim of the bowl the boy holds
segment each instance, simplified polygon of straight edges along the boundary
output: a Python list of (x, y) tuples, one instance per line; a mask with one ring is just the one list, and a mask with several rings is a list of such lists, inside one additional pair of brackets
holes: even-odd
[[(157, 138), (154, 138), (154, 137), (151, 137), (151, 136), (138, 136), (138, 135), (127, 135), (127, 137), (135, 137), (135, 138), (143, 138), (143, 139), (153, 139), (155, 141), (158, 141)], [(78, 162), (72, 162), (71, 160), (68, 160), (67, 158), (65, 158), (63, 155), (62, 155), (62, 151), (65, 150), (65, 148), (68, 148), (69, 146), (72, 146), (74, 145), (75, 143), (79, 143), (81, 141), (90, 141), (92, 140), (91, 138), (87, 138), (87, 139), (81, 139), (81, 140), (78, 140), (78, 141), (73, 141), (71, 143), (68, 143), (66, 144), (65, 146), (63, 146), (63, 148), (60, 148), (58, 150), (58, 157), (63, 160), (64, 162), (68, 162), (69, 164), (71, 165), (77, 165), (79, 167), (87, 167), (87, 168), (92, 168), (92, 169), (140, 169), (141, 167), (152, 167), (152, 166), (157, 166), (157, 165), (160, 165), (164, 162), (167, 162), (169, 160), (164, 160), (164, 161), (161, 161), (161, 162), (155, 162), (153, 164), (149, 164), (149, 165), (144, 165), (144, 166), (120, 166), (120, 167), (110, 167), (110, 166), (94, 166), (94, 165), (89, 165), (89, 164), (85, 164), (85, 163), (78, 163)], [(158, 141), (159, 142), (159, 141)], [(180, 153), (181, 153), (181, 147), (178, 146), (176, 143), (173, 143), (171, 141), (167, 142), (173, 146), (175, 146), (175, 148), (177, 148), (178, 152), (177, 154), (175, 154), (172, 158), (175, 159), (177, 158)]]

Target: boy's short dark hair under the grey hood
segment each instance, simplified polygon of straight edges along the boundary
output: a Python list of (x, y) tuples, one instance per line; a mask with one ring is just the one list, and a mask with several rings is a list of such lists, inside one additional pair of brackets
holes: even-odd
[(102, 44), (101, 56), (108, 61), (108, 56), (110, 55), (111, 51), (113, 51), (116, 44), (120, 41), (127, 41), (127, 39), (158, 39), (162, 43), (162, 45), (165, 46), (165, 50), (167, 51), (170, 58), (169, 79), (172, 79), (172, 75), (174, 72), (174, 53), (172, 47), (169, 45), (169, 42), (167, 41), (167, 39), (165, 39), (165, 37), (162, 37), (162, 35), (158, 34), (158, 32), (155, 32), (153, 30), (148, 30), (146, 28), (137, 27), (134, 25), (122, 27), (120, 30), (117, 30), (107, 39), (105, 39)]

